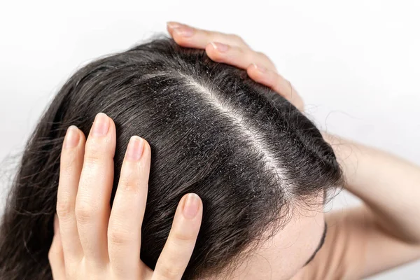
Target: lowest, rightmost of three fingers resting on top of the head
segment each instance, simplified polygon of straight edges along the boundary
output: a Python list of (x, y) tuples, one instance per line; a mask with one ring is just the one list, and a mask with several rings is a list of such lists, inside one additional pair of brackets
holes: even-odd
[(271, 87), (272, 90), (288, 99), (288, 101), (297, 109), (303, 111), (304, 104), (302, 97), (300, 97), (293, 85), (279, 73), (256, 64), (249, 66), (248, 69), (246, 69), (246, 72), (250, 78), (255, 80), (255, 82)]

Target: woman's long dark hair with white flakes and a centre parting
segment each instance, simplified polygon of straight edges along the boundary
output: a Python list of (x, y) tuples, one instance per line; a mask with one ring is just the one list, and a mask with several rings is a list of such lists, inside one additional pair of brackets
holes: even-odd
[(1, 279), (52, 279), (62, 141), (69, 125), (87, 135), (99, 112), (117, 130), (111, 204), (130, 137), (151, 144), (140, 255), (146, 265), (155, 267), (181, 197), (202, 198), (202, 227), (183, 279), (229, 271), (286, 223), (280, 213), (342, 183), (331, 147), (286, 99), (204, 50), (155, 38), (78, 70), (43, 114), (1, 222)]

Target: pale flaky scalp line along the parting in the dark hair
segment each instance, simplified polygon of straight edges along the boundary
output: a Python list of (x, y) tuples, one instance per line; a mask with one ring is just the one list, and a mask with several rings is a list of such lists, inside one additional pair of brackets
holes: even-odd
[[(259, 128), (252, 125), (252, 122), (247, 121), (246, 117), (244, 117), (240, 111), (232, 108), (228, 102), (223, 102), (218, 97), (216, 90), (209, 85), (203, 85), (190, 76), (184, 76), (182, 74), (181, 76), (186, 78), (188, 85), (202, 93), (202, 97), (207, 101), (209, 106), (223, 113), (225, 116), (228, 116), (228, 118), (232, 120), (232, 123), (235, 124), (239, 128), (239, 131), (244, 134), (244, 137), (248, 139), (248, 144), (253, 148), (253, 151), (256, 151), (261, 155), (267, 172), (273, 174), (276, 181), (281, 183), (281, 186), (284, 188), (283, 190), (286, 199), (290, 198), (292, 196), (290, 189), (292, 186), (290, 183), (287, 183), (289, 180), (286, 176), (286, 170), (281, 167), (281, 162), (276, 159), (276, 156), (269, 151), (268, 144), (265, 139), (260, 136), (262, 133), (259, 133)], [(286, 186), (288, 188), (286, 188)]]

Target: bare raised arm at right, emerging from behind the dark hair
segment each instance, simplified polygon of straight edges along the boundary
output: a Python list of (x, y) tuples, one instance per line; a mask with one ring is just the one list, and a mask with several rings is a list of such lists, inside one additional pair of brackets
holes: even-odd
[(342, 165), (345, 188), (360, 197), (378, 225), (420, 244), (420, 167), (375, 148), (323, 134)]

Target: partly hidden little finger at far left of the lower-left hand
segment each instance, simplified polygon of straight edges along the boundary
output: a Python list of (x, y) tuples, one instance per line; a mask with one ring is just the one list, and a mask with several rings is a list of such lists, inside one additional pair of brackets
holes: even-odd
[(54, 216), (54, 237), (52, 237), (50, 251), (48, 251), (48, 260), (50, 261), (52, 279), (65, 280), (66, 269), (64, 265), (64, 253), (62, 240), (59, 234), (57, 215)]

